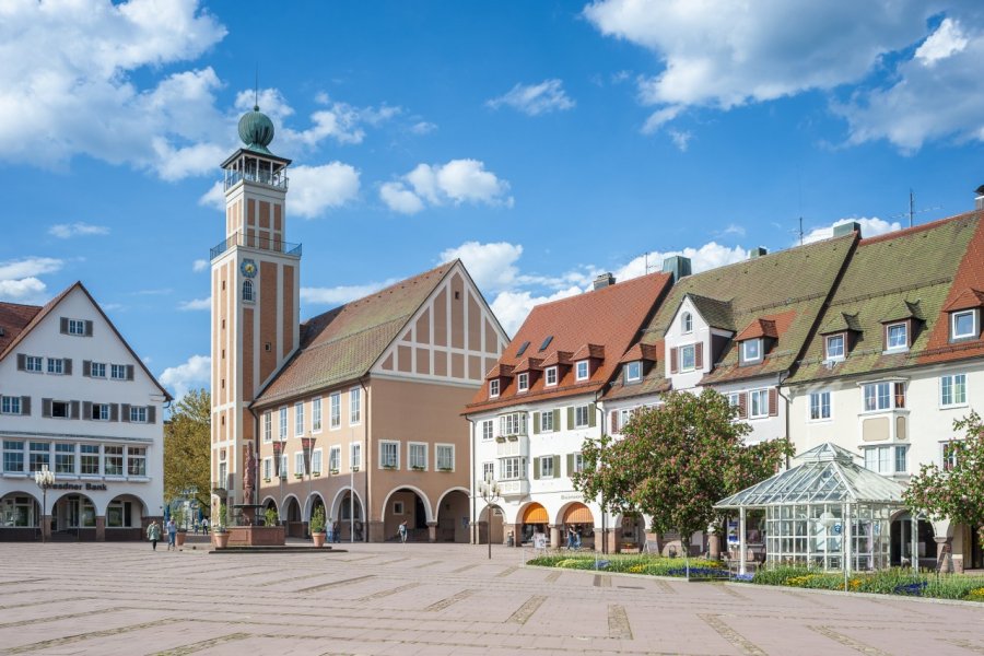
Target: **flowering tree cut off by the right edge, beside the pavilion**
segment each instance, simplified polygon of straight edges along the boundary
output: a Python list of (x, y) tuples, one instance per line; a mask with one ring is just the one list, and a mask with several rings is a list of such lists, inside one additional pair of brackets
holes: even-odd
[(976, 527), (984, 539), (984, 423), (976, 412), (953, 422), (963, 440), (947, 445), (946, 470), (935, 462), (923, 465), (912, 477), (904, 500), (915, 513), (949, 517), (956, 524)]

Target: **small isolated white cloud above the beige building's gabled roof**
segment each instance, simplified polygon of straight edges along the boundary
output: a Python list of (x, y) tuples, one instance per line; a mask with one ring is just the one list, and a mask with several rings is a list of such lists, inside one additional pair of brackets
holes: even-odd
[(483, 162), (452, 160), (447, 164), (418, 164), (400, 180), (380, 185), (379, 198), (389, 209), (412, 214), (426, 204), (470, 202), (513, 207), (508, 190), (509, 184), (485, 171)]

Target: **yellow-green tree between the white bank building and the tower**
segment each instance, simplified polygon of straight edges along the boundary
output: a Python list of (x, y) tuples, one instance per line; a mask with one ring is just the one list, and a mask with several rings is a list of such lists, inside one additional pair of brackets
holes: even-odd
[(176, 499), (181, 490), (195, 487), (206, 512), (211, 495), (211, 396), (198, 389), (181, 397), (164, 424), (164, 499)]

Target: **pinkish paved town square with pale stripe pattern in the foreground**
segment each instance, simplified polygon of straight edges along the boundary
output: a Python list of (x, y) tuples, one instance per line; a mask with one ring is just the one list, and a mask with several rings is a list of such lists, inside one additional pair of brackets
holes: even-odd
[(984, 608), (524, 567), (516, 549), (0, 544), (0, 654), (984, 654)]

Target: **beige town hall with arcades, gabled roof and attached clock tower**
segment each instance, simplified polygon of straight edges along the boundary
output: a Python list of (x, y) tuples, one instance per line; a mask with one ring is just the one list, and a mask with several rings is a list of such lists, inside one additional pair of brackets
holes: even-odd
[[(258, 110), (226, 160), (226, 239), (213, 249), (215, 500), (276, 508), (303, 536), (317, 506), (341, 539), (468, 541), (461, 406), (507, 338), (456, 260), (297, 320), (300, 245), (288, 244), (288, 160)], [(257, 489), (243, 471), (256, 458)]]

